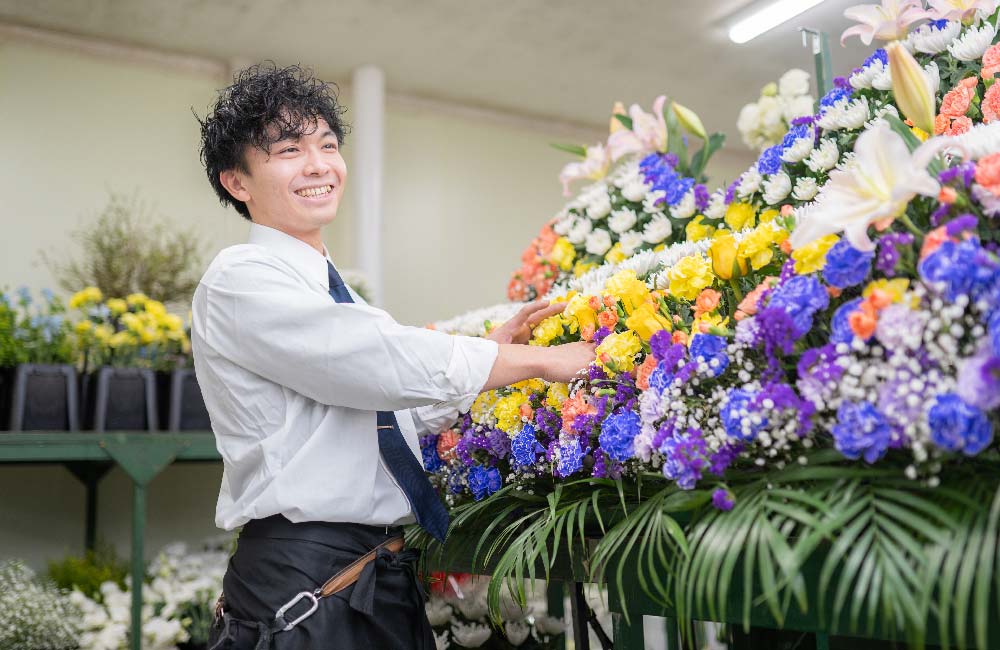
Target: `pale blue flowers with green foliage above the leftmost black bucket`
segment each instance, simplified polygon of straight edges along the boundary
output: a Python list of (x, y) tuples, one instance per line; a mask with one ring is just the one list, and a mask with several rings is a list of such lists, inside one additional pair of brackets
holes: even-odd
[(36, 302), (26, 287), (0, 292), (0, 368), (21, 363), (72, 363), (75, 359), (66, 307), (49, 290)]

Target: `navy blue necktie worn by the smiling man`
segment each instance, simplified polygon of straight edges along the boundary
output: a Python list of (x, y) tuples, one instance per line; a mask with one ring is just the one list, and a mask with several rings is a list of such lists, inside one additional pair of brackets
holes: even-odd
[[(354, 302), (337, 269), (329, 262), (326, 266), (333, 299), (337, 302)], [(377, 414), (378, 448), (382, 453), (382, 460), (410, 502), (417, 523), (443, 543), (445, 533), (448, 532), (448, 511), (427, 480), (423, 466), (403, 439), (396, 414), (392, 411), (377, 411)]]

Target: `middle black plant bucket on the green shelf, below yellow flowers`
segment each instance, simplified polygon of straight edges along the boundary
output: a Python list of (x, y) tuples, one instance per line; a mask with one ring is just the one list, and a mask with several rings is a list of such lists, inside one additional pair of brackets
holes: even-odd
[(98, 368), (83, 378), (84, 426), (94, 431), (156, 431), (156, 378), (147, 368)]

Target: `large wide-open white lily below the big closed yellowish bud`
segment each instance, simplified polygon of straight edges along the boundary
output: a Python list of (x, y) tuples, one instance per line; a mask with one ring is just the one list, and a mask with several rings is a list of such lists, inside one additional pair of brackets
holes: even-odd
[(927, 165), (947, 144), (946, 138), (932, 138), (911, 153), (898, 133), (878, 121), (858, 137), (851, 163), (830, 172), (816, 201), (798, 215), (792, 248), (843, 232), (851, 246), (873, 250), (868, 226), (885, 230), (916, 195), (938, 195), (941, 186)]

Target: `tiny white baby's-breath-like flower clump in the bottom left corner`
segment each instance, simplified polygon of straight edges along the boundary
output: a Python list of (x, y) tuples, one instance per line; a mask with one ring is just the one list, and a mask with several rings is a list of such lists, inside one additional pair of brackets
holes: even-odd
[(20, 562), (0, 564), (0, 648), (75, 648), (78, 619), (79, 611), (64, 592), (38, 582)]

